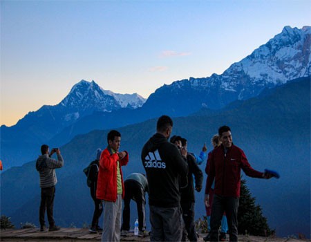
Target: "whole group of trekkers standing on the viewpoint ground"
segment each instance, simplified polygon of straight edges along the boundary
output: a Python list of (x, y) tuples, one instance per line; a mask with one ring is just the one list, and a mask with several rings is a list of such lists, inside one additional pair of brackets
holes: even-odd
[[(121, 134), (116, 130), (108, 133), (106, 149), (97, 149), (96, 159), (84, 169), (95, 204), (89, 231), (102, 233), (102, 241), (120, 241), (121, 236), (129, 235), (131, 200), (137, 204), (138, 236), (150, 234), (150, 241), (198, 240), (194, 224), (195, 191), (202, 189), (203, 174), (198, 165), (206, 159), (207, 147), (204, 145), (198, 156), (187, 151), (187, 140), (180, 136), (171, 137), (172, 129), (173, 120), (169, 116), (158, 118), (156, 133), (141, 152), (145, 175), (133, 173), (123, 179), (122, 166), (128, 164), (129, 153), (120, 150)], [(238, 241), (241, 169), (254, 178), (268, 179), (272, 174), (256, 171), (249, 165), (243, 150), (233, 144), (229, 127), (220, 127), (211, 142), (214, 149), (208, 153), (205, 167), (209, 234), (203, 239), (225, 241), (226, 233), (229, 233), (229, 241)], [(53, 153), (57, 154), (57, 160), (51, 158)], [(41, 187), (41, 231), (47, 230), (46, 210), (49, 231), (60, 229), (53, 219), (53, 202), (57, 183), (55, 169), (63, 165), (59, 149), (50, 152), (48, 145), (41, 146), (41, 156), (36, 163)], [(145, 222), (146, 192), (149, 194), (150, 232), (147, 232)], [(98, 224), (101, 214), (103, 227)]]

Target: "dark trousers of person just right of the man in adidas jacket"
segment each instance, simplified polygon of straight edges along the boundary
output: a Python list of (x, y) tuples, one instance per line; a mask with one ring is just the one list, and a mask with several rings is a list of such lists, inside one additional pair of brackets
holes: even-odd
[(186, 241), (187, 234), (189, 241), (198, 241), (194, 225), (194, 202), (180, 203), (180, 205), (182, 207), (182, 220), (184, 221), (182, 241)]

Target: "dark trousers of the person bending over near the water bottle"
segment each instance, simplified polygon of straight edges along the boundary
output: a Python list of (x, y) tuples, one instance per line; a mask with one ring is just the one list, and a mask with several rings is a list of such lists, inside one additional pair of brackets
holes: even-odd
[(129, 230), (130, 228), (130, 217), (131, 217), (131, 209), (130, 203), (131, 199), (136, 202), (137, 205), (137, 213), (138, 213), (138, 229), (140, 231), (146, 230), (146, 212), (145, 212), (145, 204), (146, 198), (144, 197), (144, 189), (135, 180), (126, 180), (124, 182), (124, 210), (123, 210), (123, 223), (122, 230)]

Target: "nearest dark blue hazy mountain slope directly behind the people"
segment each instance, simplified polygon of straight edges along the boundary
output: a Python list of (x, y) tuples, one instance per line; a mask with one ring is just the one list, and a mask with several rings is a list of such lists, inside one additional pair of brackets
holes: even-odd
[[(187, 138), (189, 151), (198, 153), (204, 142), (210, 150), (211, 136), (227, 124), (232, 128), (234, 144), (245, 151), (254, 169), (279, 171), (279, 180), (248, 178), (243, 174), (263, 215), (279, 236), (310, 234), (310, 81), (310, 76), (299, 78), (217, 111), (204, 108), (194, 115), (173, 118), (173, 134)], [(156, 120), (118, 129), (122, 133), (121, 149), (129, 151), (130, 158), (129, 165), (123, 168), (124, 176), (133, 171), (144, 172), (140, 152), (155, 133)], [(91, 223), (93, 201), (82, 170), (95, 158), (97, 148), (106, 147), (108, 132), (91, 131), (60, 147), (65, 165), (57, 170), (58, 225), (82, 227)], [(206, 161), (200, 168), (204, 170), (205, 165)], [(203, 193), (196, 193), (196, 218), (205, 215)], [(10, 216), (15, 225), (26, 221), (38, 225), (39, 194), (35, 161), (1, 174), (1, 214)]]

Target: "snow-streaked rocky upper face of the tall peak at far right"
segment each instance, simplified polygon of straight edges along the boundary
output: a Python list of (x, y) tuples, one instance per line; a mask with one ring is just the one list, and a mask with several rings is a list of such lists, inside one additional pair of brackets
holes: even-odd
[[(258, 86), (284, 84), (288, 80), (311, 75), (310, 65), (311, 27), (302, 29), (286, 26), (267, 44), (230, 66), (223, 77), (245, 75), (250, 83)], [(232, 79), (232, 78), (229, 78)], [(222, 83), (236, 89), (236, 83)]]

